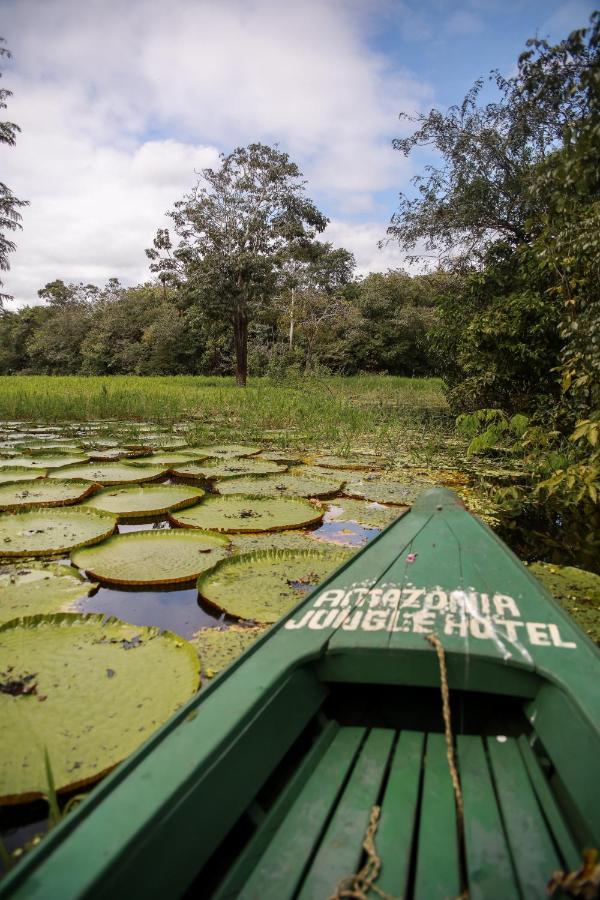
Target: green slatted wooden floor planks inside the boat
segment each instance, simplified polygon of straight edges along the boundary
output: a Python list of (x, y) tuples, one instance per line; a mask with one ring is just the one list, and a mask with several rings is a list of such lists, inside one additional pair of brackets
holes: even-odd
[[(457, 829), (443, 734), (325, 729), (213, 895), (219, 900), (326, 900), (364, 862), (373, 805), (382, 869), (394, 897), (546, 897), (579, 853), (525, 738), (459, 736), (464, 808)], [(452, 836), (454, 835), (454, 839)]]

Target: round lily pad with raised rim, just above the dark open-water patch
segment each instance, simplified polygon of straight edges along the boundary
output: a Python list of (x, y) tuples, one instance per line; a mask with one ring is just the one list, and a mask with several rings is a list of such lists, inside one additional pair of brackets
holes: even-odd
[(176, 584), (196, 578), (223, 557), (227, 547), (227, 539), (218, 534), (132, 531), (98, 547), (76, 550), (71, 562), (108, 584)]

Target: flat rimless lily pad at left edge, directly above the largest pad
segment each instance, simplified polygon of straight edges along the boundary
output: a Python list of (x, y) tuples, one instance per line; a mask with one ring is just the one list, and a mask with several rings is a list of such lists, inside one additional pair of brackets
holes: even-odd
[(21, 616), (67, 612), (98, 587), (72, 566), (34, 563), (0, 572), (0, 624)]

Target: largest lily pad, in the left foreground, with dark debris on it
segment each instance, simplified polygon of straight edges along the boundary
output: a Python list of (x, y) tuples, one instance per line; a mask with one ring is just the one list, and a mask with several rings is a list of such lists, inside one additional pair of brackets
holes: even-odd
[(0, 627), (0, 802), (96, 781), (198, 688), (198, 656), (158, 628), (104, 616), (31, 616)]

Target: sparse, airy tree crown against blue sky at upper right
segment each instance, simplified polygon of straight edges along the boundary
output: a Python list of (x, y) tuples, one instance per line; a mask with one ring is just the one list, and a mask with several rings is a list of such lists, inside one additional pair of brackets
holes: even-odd
[(597, 66), (597, 50), (581, 35), (545, 57), (544, 41), (528, 47), (514, 77), (491, 73), (494, 102), (480, 103), (485, 80), (479, 79), (445, 113), (401, 113), (417, 128), (394, 147), (405, 156), (427, 147), (442, 158), (413, 179), (416, 196), (400, 195), (387, 234), (404, 249), (424, 244), (438, 262), (479, 267), (496, 243), (516, 248), (530, 239), (540, 199), (543, 205), (529, 191), (536, 165), (559, 146), (566, 126), (588, 117), (581, 83)]

